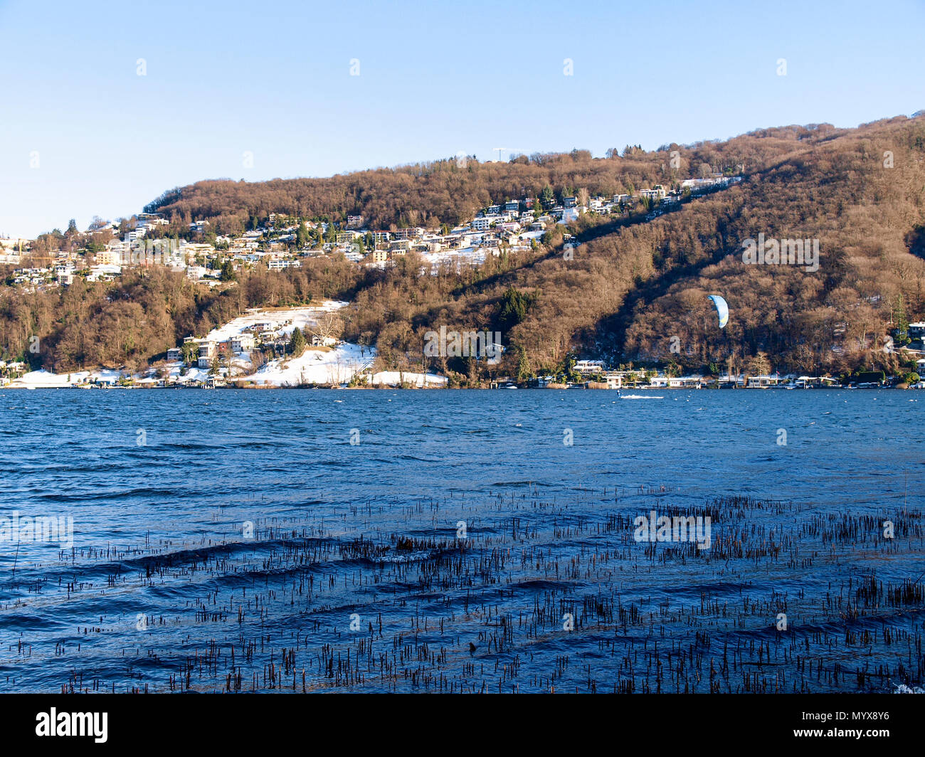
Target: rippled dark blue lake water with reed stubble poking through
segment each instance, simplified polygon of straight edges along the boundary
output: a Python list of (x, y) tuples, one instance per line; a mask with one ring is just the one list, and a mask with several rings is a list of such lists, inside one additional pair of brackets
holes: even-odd
[(921, 686), (925, 394), (637, 394), (0, 391), (0, 691)]

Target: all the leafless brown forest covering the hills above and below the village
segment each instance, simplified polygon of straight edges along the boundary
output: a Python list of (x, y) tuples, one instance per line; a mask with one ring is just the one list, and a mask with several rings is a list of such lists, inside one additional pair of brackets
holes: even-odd
[[(445, 325), (501, 330), (509, 349), (491, 370), (521, 376), (555, 370), (569, 354), (614, 365), (673, 361), (679, 370), (714, 369), (730, 359), (746, 366), (762, 353), (781, 370), (894, 367), (894, 354), (884, 350), (891, 329), (925, 316), (921, 117), (855, 130), (759, 130), (598, 159), (574, 151), (330, 179), (202, 181), (166, 192), (148, 209), (173, 218), (178, 229), (209, 218), (225, 233), (270, 212), (338, 222), (362, 214), (369, 228), (388, 229), (455, 224), (548, 186), (560, 195), (611, 194), (708, 172), (744, 179), (652, 219), (582, 217), (571, 230), (582, 242), (573, 251), (562, 249), (560, 230), (537, 250), (489, 256), (484, 267), (459, 275), (421, 277), (409, 254), (386, 271), (341, 256), (313, 258), (300, 270), (254, 271), (211, 292), (166, 271), (61, 292), (4, 287), (0, 343), (8, 355), (25, 354), (37, 334), (42, 350), (33, 360), (56, 370), (138, 366), (244, 307), (338, 297), (352, 303), (345, 337), (375, 343), (388, 366), (419, 366), (425, 331)], [(818, 239), (819, 269), (746, 265), (742, 244), (759, 233)], [(717, 328), (709, 293), (730, 305), (725, 329)]]

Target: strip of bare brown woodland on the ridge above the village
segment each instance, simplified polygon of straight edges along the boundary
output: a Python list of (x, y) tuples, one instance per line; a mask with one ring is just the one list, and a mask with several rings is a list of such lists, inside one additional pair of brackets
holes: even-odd
[[(670, 184), (702, 171), (732, 174), (770, 159), (779, 149), (777, 142), (700, 143), (683, 152), (678, 145), (664, 145), (652, 153), (627, 145), (622, 156), (614, 149), (611, 157), (597, 159), (586, 150), (573, 150), (564, 155), (520, 155), (506, 163), (453, 157), (329, 179), (199, 181), (165, 192), (145, 210), (175, 219), (178, 228), (207, 219), (225, 234), (240, 233), (254, 217), (262, 219), (271, 212), (338, 222), (362, 215), (370, 229), (438, 228), (470, 220), (492, 203), (536, 197), (547, 187), (560, 196), (582, 188), (612, 195)], [(681, 154), (673, 168), (672, 151)]]

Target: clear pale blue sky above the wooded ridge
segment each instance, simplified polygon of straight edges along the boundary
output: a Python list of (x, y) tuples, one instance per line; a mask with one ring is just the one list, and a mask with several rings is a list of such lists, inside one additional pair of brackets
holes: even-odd
[(0, 0), (0, 40), (6, 236), (82, 230), (202, 179), (603, 155), (925, 108), (920, 0)]

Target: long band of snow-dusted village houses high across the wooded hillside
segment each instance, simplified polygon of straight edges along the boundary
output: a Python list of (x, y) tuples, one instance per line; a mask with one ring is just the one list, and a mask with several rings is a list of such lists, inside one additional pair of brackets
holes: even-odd
[[(681, 181), (673, 189), (660, 184), (651, 189), (611, 197), (524, 197), (489, 205), (474, 218), (454, 228), (408, 227), (371, 230), (364, 217), (347, 216), (341, 223), (270, 213), (240, 236), (211, 234), (209, 221), (193, 220), (185, 237), (166, 237), (170, 221), (159, 213), (139, 213), (120, 223), (98, 221), (86, 231), (106, 238), (100, 249), (58, 251), (48, 265), (17, 267), (6, 277), (10, 286), (47, 289), (68, 286), (75, 277), (88, 281), (117, 279), (123, 269), (164, 266), (190, 279), (215, 286), (242, 268), (284, 270), (301, 267), (306, 257), (343, 254), (358, 266), (388, 267), (409, 253), (421, 256), (422, 273), (443, 267), (478, 265), (488, 254), (517, 252), (542, 241), (557, 224), (567, 225), (584, 214), (621, 217), (645, 209), (648, 219), (664, 213), (692, 193), (720, 188), (740, 177), (717, 174)], [(586, 192), (585, 192), (586, 195)], [(120, 233), (121, 230), (121, 233)], [(201, 241), (208, 239), (209, 241)], [(94, 245), (95, 246), (95, 245)], [(31, 257), (30, 240), (0, 239), (0, 265), (20, 266)]]

